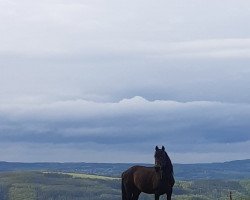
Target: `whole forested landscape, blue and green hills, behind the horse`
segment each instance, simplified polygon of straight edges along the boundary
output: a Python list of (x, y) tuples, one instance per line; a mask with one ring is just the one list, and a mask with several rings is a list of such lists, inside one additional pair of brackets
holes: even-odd
[[(120, 200), (120, 175), (131, 165), (0, 162), (0, 200)], [(228, 200), (230, 191), (233, 200), (250, 200), (250, 160), (175, 164), (174, 171), (174, 200)]]

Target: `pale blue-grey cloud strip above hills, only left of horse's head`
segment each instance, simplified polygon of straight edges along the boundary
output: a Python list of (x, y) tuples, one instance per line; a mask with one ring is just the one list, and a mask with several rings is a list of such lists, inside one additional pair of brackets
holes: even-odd
[[(153, 150), (138, 152), (96, 144), (0, 143), (1, 160), (14, 162), (153, 163)], [(87, 148), (86, 148), (87, 146)], [(132, 145), (133, 146), (133, 145)], [(133, 156), (131, 156), (133, 155)]]

